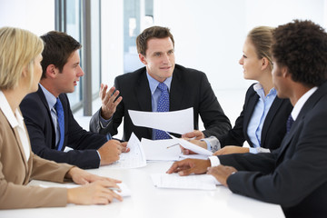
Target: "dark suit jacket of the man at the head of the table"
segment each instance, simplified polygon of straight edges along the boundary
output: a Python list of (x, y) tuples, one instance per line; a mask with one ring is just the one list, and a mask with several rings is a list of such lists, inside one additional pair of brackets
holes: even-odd
[[(151, 139), (152, 129), (135, 126), (128, 114), (128, 110), (152, 112), (151, 91), (145, 67), (134, 73), (117, 76), (114, 86), (123, 96), (123, 101), (118, 104), (112, 122), (102, 129), (99, 110), (91, 119), (90, 130), (100, 134), (117, 134), (117, 128), (124, 117), (123, 140), (128, 140), (132, 132), (138, 138)], [(206, 136), (226, 134), (231, 128), (229, 119), (223, 114), (223, 109), (203, 72), (175, 64), (169, 95), (170, 111), (193, 107), (194, 129), (198, 129), (200, 114), (205, 128), (203, 134)]]

